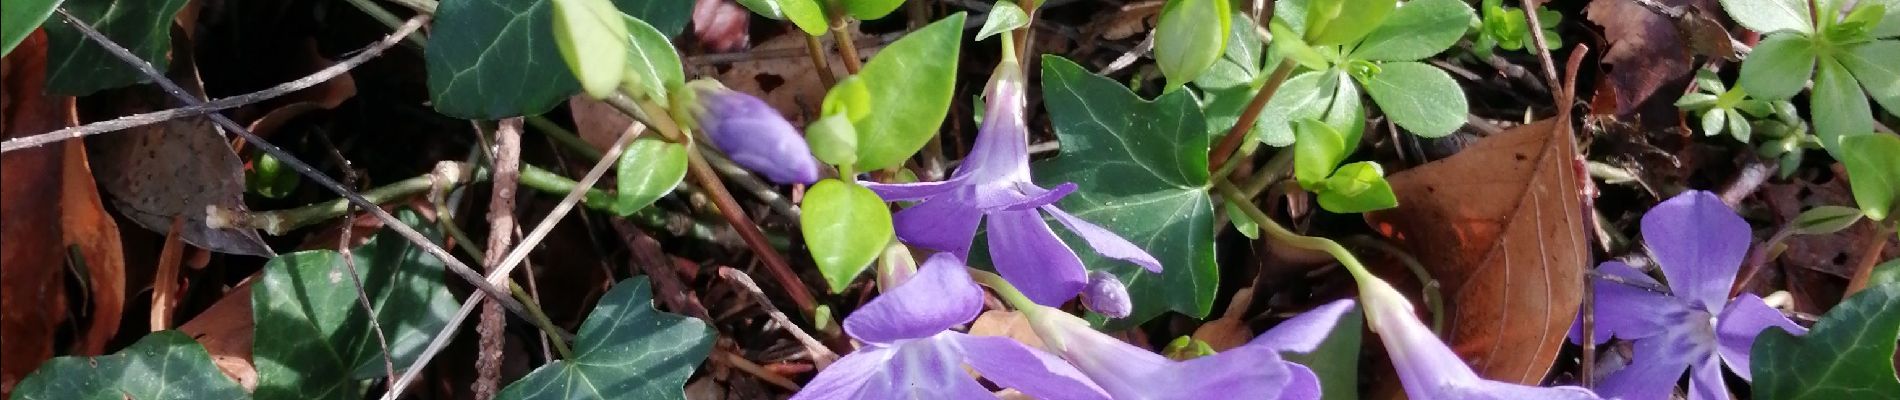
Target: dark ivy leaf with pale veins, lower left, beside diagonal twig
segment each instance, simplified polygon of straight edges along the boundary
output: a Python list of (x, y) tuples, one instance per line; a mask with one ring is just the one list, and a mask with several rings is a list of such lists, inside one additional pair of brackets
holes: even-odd
[[(416, 212), (397, 214), (431, 241), (433, 224)], [(429, 337), (448, 324), (456, 300), (443, 284), (443, 262), (395, 233), (378, 233), (353, 252), (355, 281), (376, 307), (357, 301), (352, 267), (332, 250), (293, 252), (264, 264), (251, 288), (256, 320), (258, 398), (359, 398), (365, 379), (382, 377), (382, 345), (369, 318), (382, 324), (395, 370), (408, 370)]]

